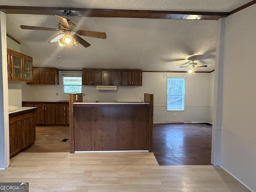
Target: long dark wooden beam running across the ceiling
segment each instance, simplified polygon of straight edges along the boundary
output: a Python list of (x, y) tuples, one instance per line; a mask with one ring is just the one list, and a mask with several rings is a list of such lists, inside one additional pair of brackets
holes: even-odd
[(88, 9), (70, 7), (32, 7), (32, 6), (0, 6), (6, 14), (40, 14), (61, 15), (64, 10), (71, 10), (71, 16), (116, 17), (116, 18), (156, 18), (156, 19), (194, 19), (218, 20), (226, 17), (227, 12), (192, 12), (192, 11), (156, 11), (156, 10), (121, 10), (121, 9)]

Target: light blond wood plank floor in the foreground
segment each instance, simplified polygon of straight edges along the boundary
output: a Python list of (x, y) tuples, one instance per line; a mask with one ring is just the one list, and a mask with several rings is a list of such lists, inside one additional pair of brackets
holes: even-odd
[(220, 167), (159, 166), (148, 152), (22, 152), (0, 182), (29, 182), (30, 192), (249, 191)]

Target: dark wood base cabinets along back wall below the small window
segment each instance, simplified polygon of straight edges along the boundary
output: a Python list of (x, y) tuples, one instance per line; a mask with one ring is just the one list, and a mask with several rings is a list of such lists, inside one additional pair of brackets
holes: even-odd
[(68, 102), (22, 102), (24, 107), (37, 107), (36, 124), (68, 125)]

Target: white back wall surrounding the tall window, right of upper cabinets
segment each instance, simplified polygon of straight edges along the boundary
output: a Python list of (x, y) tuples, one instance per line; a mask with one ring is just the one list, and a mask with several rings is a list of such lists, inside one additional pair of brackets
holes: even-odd
[[(185, 78), (184, 111), (167, 111), (167, 78)], [(144, 72), (142, 82), (142, 94), (154, 94), (154, 122), (209, 122), (210, 73)]]

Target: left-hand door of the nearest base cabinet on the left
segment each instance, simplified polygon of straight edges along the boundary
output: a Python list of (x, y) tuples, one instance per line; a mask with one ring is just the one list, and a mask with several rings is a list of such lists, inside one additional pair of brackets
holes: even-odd
[(10, 156), (23, 148), (23, 127), (20, 119), (9, 122)]

